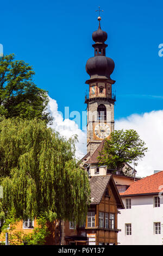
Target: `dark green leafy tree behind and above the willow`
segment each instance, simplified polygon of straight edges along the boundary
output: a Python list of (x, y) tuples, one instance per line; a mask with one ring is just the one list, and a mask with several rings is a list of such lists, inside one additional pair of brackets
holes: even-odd
[(5, 118), (21, 117), (52, 120), (45, 111), (48, 95), (32, 82), (35, 72), (14, 54), (0, 57), (0, 115)]

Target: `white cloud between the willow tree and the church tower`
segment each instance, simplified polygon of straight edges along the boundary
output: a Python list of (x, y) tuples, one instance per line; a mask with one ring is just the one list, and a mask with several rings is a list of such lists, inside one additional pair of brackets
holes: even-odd
[(67, 139), (73, 135), (78, 135), (79, 142), (76, 143), (76, 157), (78, 159), (82, 159), (86, 154), (86, 131), (80, 130), (75, 121), (68, 118), (64, 120), (62, 114), (58, 111), (57, 101), (53, 100), (51, 97), (49, 97), (47, 111), (54, 118), (51, 127), (55, 131), (58, 131), (60, 135), (66, 137)]

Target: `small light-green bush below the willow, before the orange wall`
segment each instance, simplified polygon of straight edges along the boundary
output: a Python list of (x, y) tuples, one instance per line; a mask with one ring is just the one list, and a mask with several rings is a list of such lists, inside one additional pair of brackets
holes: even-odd
[(46, 218), (43, 216), (37, 217), (37, 228), (34, 228), (32, 233), (25, 234), (23, 241), (28, 245), (45, 245), (46, 237), (50, 234), (46, 225)]

